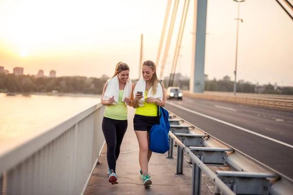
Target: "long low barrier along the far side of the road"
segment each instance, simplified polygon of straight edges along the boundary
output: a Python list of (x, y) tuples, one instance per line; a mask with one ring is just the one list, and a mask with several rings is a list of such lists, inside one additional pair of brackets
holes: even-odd
[(247, 105), (293, 111), (293, 100), (287, 100), (287, 99), (254, 98), (254, 97), (244, 97), (244, 96), (213, 95), (213, 94), (198, 94), (198, 93), (191, 94), (189, 92), (184, 92), (184, 96), (193, 97), (193, 98), (212, 99), (212, 100), (219, 100), (219, 101), (228, 101), (228, 102), (234, 102), (234, 103), (242, 103)]

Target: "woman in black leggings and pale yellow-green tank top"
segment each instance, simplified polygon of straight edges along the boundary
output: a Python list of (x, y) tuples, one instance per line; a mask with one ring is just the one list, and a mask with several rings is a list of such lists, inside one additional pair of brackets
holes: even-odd
[[(129, 106), (132, 106), (132, 100), (131, 100), (133, 99), (132, 95), (131, 95), (131, 98), (125, 98), (124, 99), (125, 102), (122, 101), (122, 97), (125, 93), (125, 87), (128, 82), (127, 81), (128, 78), (129, 78), (128, 65), (124, 62), (119, 62), (116, 65), (115, 73), (113, 77), (110, 78), (110, 79), (119, 80), (118, 102), (116, 102), (117, 103), (116, 105), (112, 104), (114, 102), (114, 97), (108, 98), (107, 100), (103, 99), (110, 79), (106, 82), (104, 86), (102, 100), (101, 100), (101, 103), (107, 106), (104, 112), (102, 130), (103, 130), (105, 140), (107, 143), (107, 162), (109, 167), (108, 181), (112, 184), (115, 184), (117, 181), (116, 161), (118, 159), (118, 156), (120, 153), (120, 146), (127, 129), (127, 106), (125, 103), (129, 104)], [(132, 84), (130, 89), (131, 88), (133, 88)], [(118, 88), (109, 89), (109, 90), (118, 90)]]

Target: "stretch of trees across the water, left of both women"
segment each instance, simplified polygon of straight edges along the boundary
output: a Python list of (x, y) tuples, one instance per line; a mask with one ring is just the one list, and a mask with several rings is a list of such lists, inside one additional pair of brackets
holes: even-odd
[(30, 75), (15, 76), (0, 73), (0, 92), (29, 94), (32, 92), (49, 93), (56, 90), (59, 93), (102, 94), (106, 81), (106, 76), (102, 76), (102, 78), (36, 78)]

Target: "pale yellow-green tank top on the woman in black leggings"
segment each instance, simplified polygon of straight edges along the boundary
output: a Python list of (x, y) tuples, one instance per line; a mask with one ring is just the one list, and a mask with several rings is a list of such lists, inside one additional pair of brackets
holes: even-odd
[(127, 106), (122, 101), (124, 90), (119, 90), (119, 99), (117, 105), (107, 105), (104, 117), (112, 118), (116, 120), (127, 120)]

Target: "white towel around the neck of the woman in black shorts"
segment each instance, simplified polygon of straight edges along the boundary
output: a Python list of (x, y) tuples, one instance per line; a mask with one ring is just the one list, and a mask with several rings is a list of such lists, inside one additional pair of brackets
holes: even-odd
[[(135, 98), (135, 94), (140, 91), (143, 92), (143, 98), (141, 98), (140, 100), (138, 100), (138, 105), (139, 106), (145, 106), (144, 105), (144, 101), (145, 101), (145, 93), (146, 93), (146, 81), (144, 78), (141, 78), (135, 85), (135, 88), (133, 90), (133, 97)], [(163, 89), (162, 89), (162, 85), (161, 83), (158, 82), (157, 85), (157, 91), (156, 94), (153, 95), (152, 94), (152, 88), (150, 88), (147, 92), (147, 97), (153, 97), (153, 98), (157, 98), (160, 99), (161, 101), (163, 100)]]

